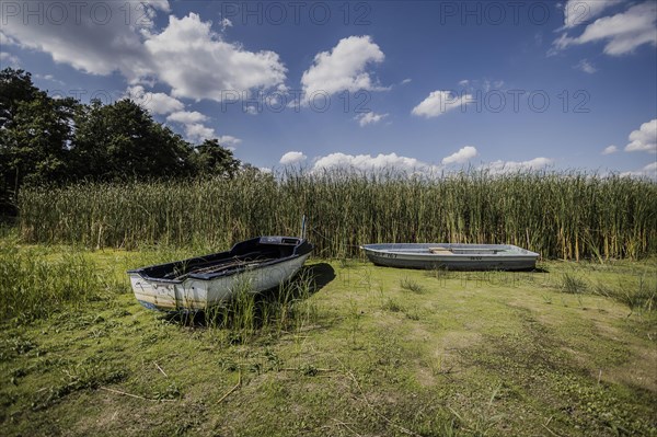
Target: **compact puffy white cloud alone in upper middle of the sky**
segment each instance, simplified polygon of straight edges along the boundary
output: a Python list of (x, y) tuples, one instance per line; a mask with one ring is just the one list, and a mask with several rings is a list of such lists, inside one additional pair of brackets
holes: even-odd
[(370, 36), (341, 39), (331, 51), (315, 55), (312, 66), (303, 72), (301, 85), (306, 96), (322, 92), (380, 90), (366, 68), (382, 62), (385, 56)]

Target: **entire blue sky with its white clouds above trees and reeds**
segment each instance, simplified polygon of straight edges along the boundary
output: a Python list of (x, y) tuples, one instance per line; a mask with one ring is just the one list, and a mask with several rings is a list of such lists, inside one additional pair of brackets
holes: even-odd
[(656, 177), (654, 1), (0, 4), (0, 62), (260, 168)]

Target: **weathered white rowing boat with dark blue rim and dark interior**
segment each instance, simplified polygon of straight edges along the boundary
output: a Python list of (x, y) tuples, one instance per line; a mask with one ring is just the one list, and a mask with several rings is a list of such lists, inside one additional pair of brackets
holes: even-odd
[[(135, 297), (146, 308), (205, 310), (227, 302), (240, 290), (256, 294), (278, 286), (301, 268), (311, 251), (312, 244), (302, 239), (260, 237), (228, 252), (142, 267), (128, 275)], [(279, 256), (258, 260), (255, 253)]]

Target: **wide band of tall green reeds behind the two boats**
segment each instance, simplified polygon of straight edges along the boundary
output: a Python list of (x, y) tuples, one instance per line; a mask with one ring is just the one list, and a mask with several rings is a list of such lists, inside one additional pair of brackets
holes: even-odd
[(81, 184), (20, 196), (28, 242), (226, 248), (298, 234), (309, 219), (315, 255), (350, 256), (373, 242), (512, 243), (544, 257), (657, 253), (657, 184), (576, 172), (441, 177), (357, 172), (233, 180)]

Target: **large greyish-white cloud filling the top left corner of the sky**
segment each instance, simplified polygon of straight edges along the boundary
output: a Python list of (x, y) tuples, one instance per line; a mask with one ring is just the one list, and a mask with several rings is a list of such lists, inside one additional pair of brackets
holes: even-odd
[[(9, 2), (0, 8), (2, 39), (89, 73), (120, 71), (132, 83), (151, 71), (142, 34), (153, 27), (157, 11), (170, 10), (169, 2), (159, 0), (14, 4), (18, 13)], [(25, 18), (23, 8), (32, 8), (35, 14)]]

